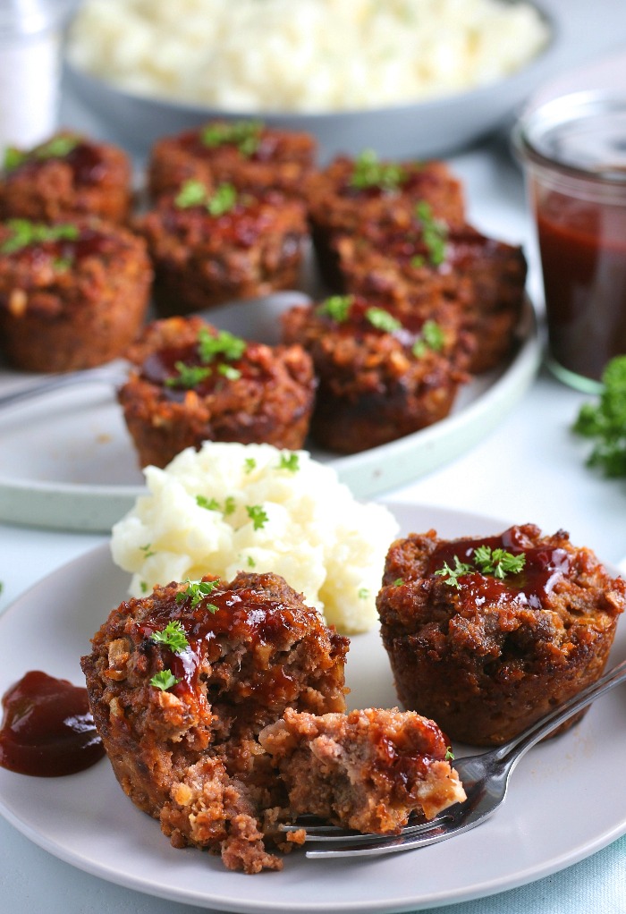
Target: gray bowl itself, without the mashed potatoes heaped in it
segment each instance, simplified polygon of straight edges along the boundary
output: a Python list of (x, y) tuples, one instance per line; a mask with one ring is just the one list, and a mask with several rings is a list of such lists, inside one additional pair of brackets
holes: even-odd
[(366, 148), (389, 158), (445, 156), (512, 121), (521, 102), (550, 74), (557, 28), (545, 11), (542, 16), (551, 40), (523, 69), (479, 89), (397, 107), (319, 114), (234, 113), (133, 94), (81, 72), (69, 62), (65, 64), (65, 80), (79, 101), (100, 118), (111, 140), (135, 154), (147, 153), (162, 136), (215, 118), (254, 118), (281, 129), (313, 133), (322, 163), (334, 155), (355, 155)]

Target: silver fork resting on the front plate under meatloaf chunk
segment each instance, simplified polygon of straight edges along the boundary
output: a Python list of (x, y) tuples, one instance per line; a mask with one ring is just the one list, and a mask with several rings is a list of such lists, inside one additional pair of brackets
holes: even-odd
[(381, 835), (349, 832), (334, 825), (308, 824), (306, 817), (303, 817), (296, 824), (282, 825), (281, 831), (296, 831), (303, 827), (306, 830), (307, 841), (325, 845), (316, 850), (307, 850), (306, 856), (324, 859), (393, 854), (396, 851), (433, 845), (439, 841), (446, 841), (455, 834), (468, 832), (483, 823), (502, 805), (511, 773), (528, 749), (582, 708), (587, 707), (595, 698), (624, 681), (626, 660), (614, 666), (609, 673), (601, 676), (596, 683), (583, 689), (577, 696), (555, 708), (546, 717), (542, 717), (515, 739), (480, 755), (455, 760), (454, 768), (462, 780), (467, 800), (455, 803), (430, 822), (407, 825), (400, 834)]

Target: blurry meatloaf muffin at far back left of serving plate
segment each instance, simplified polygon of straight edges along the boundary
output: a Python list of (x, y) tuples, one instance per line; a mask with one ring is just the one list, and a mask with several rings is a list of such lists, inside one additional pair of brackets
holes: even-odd
[(0, 218), (122, 222), (131, 207), (131, 178), (130, 160), (118, 146), (57, 133), (33, 149), (5, 154)]

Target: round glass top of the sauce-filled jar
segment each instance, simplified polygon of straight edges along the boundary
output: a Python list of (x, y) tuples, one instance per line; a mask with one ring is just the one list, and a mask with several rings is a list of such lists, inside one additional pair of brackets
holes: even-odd
[(517, 152), (600, 181), (626, 182), (626, 92), (574, 92), (527, 112), (513, 135)]

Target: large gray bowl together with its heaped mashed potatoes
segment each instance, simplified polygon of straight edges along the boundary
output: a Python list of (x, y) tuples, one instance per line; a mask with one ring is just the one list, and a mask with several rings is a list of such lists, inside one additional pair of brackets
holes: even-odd
[(528, 0), (85, 0), (67, 79), (141, 153), (215, 118), (313, 133), (326, 160), (451, 154), (546, 75)]

